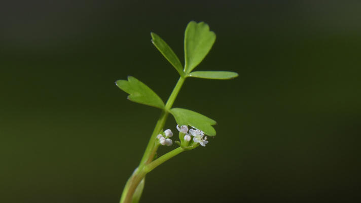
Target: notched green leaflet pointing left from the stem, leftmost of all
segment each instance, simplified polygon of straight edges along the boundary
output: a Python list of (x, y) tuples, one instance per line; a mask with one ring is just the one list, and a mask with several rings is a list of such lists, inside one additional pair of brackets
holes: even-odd
[(130, 101), (164, 109), (162, 99), (135, 77), (128, 76), (128, 80), (117, 80), (116, 85), (129, 94), (128, 99)]

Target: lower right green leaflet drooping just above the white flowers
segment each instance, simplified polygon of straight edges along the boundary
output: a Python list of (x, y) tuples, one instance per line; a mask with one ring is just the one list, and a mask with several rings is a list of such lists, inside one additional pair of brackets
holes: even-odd
[(205, 115), (183, 108), (172, 108), (170, 113), (174, 116), (179, 126), (192, 126), (203, 131), (208, 136), (215, 135), (215, 130), (212, 126), (216, 122)]

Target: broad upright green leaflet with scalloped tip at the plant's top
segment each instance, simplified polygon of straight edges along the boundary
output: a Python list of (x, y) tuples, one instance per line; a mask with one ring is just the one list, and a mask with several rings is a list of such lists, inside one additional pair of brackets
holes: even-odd
[(215, 41), (215, 34), (209, 31), (204, 22), (188, 23), (184, 36), (185, 68), (186, 73), (191, 72), (208, 54)]

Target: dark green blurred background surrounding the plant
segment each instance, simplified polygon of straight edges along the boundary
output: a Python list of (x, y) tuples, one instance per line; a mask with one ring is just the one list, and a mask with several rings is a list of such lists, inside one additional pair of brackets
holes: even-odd
[[(0, 202), (118, 202), (160, 110), (114, 82), (133, 75), (166, 100), (177, 72), (150, 32), (183, 61), (190, 20), (217, 35), (197, 70), (239, 77), (187, 79), (174, 106), (214, 118), (218, 136), (151, 172), (141, 202), (357, 201), (360, 11), (357, 1), (2, 3)], [(172, 117), (166, 127), (176, 131)]]

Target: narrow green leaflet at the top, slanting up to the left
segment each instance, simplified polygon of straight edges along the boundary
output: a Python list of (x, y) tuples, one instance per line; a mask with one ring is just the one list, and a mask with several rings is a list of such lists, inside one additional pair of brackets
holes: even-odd
[(151, 32), (152, 43), (156, 48), (163, 54), (163, 56), (173, 65), (180, 75), (183, 75), (183, 66), (179, 61), (177, 55), (174, 54), (173, 50), (167, 45), (166, 42), (156, 33)]

